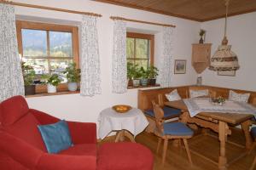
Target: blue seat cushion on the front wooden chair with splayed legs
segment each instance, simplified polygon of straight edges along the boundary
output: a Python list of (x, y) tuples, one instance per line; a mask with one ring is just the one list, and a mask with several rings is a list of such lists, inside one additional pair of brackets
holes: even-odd
[(192, 136), (193, 131), (183, 122), (166, 122), (164, 123), (164, 135), (174, 136)]

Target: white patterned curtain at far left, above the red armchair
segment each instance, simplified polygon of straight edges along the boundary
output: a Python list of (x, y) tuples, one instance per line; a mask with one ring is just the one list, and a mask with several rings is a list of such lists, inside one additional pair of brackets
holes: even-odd
[(15, 8), (0, 3), (0, 102), (15, 95), (24, 95)]

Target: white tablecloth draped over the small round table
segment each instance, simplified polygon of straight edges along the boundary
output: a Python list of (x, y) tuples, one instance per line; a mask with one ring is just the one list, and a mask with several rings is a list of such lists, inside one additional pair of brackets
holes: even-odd
[(132, 108), (126, 113), (117, 113), (112, 108), (103, 110), (99, 117), (99, 137), (104, 139), (114, 130), (128, 130), (134, 137), (142, 133), (148, 126), (148, 120), (143, 111)]

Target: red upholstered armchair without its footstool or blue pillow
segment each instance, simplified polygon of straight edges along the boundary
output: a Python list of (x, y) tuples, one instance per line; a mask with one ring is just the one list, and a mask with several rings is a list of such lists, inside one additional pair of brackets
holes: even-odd
[(21, 96), (0, 104), (0, 169), (95, 170), (96, 123), (67, 122), (74, 146), (48, 154), (38, 125), (59, 119), (29, 109)]

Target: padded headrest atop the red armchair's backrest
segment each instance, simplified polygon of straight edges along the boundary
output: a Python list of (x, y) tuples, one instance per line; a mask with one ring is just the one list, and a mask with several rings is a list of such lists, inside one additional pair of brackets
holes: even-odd
[(22, 96), (4, 100), (0, 107), (0, 122), (2, 126), (9, 126), (17, 122), (22, 116), (26, 115), (28, 110), (26, 99)]

